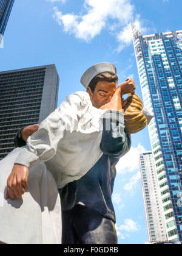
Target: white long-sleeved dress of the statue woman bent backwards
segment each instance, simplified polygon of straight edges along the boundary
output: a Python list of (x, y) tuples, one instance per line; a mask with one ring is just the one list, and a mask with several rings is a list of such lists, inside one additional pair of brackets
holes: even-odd
[[(0, 241), (8, 244), (61, 243), (58, 188), (78, 180), (103, 155), (102, 116), (84, 91), (70, 94), (51, 113), (27, 146), (0, 161)], [(28, 189), (18, 199), (5, 199), (14, 163), (29, 168)]]

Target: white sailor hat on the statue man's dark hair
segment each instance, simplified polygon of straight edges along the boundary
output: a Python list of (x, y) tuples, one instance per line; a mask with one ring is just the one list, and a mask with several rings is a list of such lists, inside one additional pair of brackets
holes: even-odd
[(115, 65), (113, 65), (112, 63), (98, 63), (87, 69), (87, 71), (81, 77), (81, 84), (83, 84), (83, 86), (87, 88), (92, 79), (103, 72), (112, 72), (113, 74), (116, 74), (117, 71)]

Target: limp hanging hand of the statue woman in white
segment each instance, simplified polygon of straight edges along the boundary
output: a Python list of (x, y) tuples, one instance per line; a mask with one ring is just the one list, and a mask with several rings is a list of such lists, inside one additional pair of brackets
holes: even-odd
[(28, 187), (29, 168), (24, 165), (15, 164), (12, 173), (7, 180), (6, 199), (21, 197)]

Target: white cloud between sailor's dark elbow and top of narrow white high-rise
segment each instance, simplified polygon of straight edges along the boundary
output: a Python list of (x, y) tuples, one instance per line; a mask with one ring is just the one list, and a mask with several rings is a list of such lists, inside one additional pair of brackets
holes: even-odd
[(120, 174), (126, 172), (135, 172), (139, 169), (139, 155), (146, 152), (146, 149), (139, 143), (137, 148), (131, 148), (130, 151), (120, 158), (120, 161), (116, 165), (116, 170)]

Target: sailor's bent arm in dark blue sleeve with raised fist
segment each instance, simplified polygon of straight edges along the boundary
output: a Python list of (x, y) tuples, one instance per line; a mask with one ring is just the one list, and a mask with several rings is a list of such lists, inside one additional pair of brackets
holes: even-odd
[(134, 93), (135, 89), (133, 79), (127, 79), (118, 86), (112, 100), (101, 107), (107, 109), (103, 115), (103, 137), (100, 145), (101, 151), (106, 155), (120, 158), (130, 150), (131, 137), (124, 129), (123, 107), (127, 101), (122, 97), (124, 94)]

